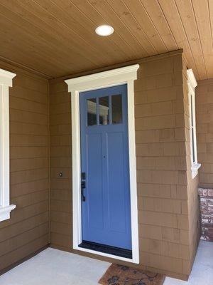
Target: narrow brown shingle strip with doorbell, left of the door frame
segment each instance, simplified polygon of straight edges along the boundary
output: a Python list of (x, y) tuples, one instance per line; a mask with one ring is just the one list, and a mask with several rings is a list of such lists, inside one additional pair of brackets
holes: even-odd
[[(71, 96), (67, 84), (50, 83), (51, 243), (71, 249), (72, 150)], [(59, 172), (63, 176), (59, 177)]]

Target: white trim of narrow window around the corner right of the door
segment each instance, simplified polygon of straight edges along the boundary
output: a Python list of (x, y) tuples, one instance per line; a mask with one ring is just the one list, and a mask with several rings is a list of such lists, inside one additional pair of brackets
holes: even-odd
[[(201, 164), (197, 162), (197, 138), (196, 138), (196, 110), (195, 110), (195, 87), (197, 86), (197, 81), (192, 69), (187, 70), (187, 83), (188, 83), (188, 99), (189, 99), (189, 108), (190, 108), (190, 151), (191, 151), (191, 170), (192, 170), (192, 179), (195, 178), (198, 174), (198, 169)], [(191, 96), (192, 96), (192, 106), (191, 106)], [(192, 112), (193, 110), (193, 112)], [(193, 113), (193, 114), (192, 114)], [(191, 120), (193, 120), (193, 140), (192, 140), (192, 131), (191, 131)], [(195, 161), (193, 161), (193, 146), (192, 141), (194, 141), (194, 155)]]

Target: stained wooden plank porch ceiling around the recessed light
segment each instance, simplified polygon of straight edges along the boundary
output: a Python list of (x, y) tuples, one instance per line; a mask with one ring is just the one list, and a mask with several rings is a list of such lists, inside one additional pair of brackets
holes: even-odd
[(0, 58), (51, 78), (178, 48), (213, 78), (213, 0), (0, 0), (0, 26)]

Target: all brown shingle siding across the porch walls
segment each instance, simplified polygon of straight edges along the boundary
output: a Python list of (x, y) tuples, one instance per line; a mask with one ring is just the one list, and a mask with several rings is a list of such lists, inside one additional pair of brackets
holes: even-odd
[[(134, 88), (140, 264), (131, 265), (187, 279), (200, 227), (198, 177), (192, 180), (190, 169), (186, 63), (181, 51), (137, 62), (140, 68)], [(49, 241), (52, 247), (82, 254), (72, 250), (72, 128), (67, 84), (64, 78), (48, 83), (4, 63), (1, 68), (17, 76), (10, 89), (11, 203), (16, 209), (11, 219), (0, 223), (0, 270)], [(208, 92), (205, 98), (209, 98)], [(204, 103), (200, 105), (203, 108)], [(211, 150), (211, 142), (201, 142), (201, 133), (209, 141), (208, 131), (213, 128), (205, 123), (202, 110), (200, 114), (204, 121), (197, 125), (198, 161), (205, 167), (201, 175), (209, 175), (208, 179), (201, 176), (201, 181), (207, 182), (212, 169), (204, 160), (209, 161), (211, 154), (200, 152), (200, 143), (209, 143)]]

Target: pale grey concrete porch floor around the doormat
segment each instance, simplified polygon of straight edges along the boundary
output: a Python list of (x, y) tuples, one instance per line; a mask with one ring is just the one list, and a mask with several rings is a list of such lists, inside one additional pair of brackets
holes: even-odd
[[(109, 263), (80, 255), (45, 249), (0, 276), (1, 285), (97, 285)], [(188, 281), (166, 277), (164, 285), (212, 285), (213, 243), (200, 242)]]

